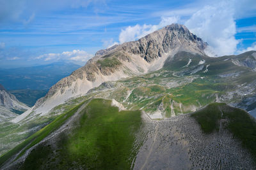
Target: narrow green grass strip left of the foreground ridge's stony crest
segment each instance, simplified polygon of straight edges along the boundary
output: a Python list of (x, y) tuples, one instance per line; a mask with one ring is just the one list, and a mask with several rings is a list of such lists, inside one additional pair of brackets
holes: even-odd
[[(83, 104), (83, 103), (81, 103), (81, 104)], [(58, 127), (60, 127), (60, 125), (62, 125), (63, 122), (65, 122), (65, 120), (67, 120), (69, 117), (71, 117), (79, 109), (81, 104), (77, 105), (76, 107), (72, 108), (72, 110), (70, 110), (67, 113), (65, 113), (65, 114), (61, 115), (60, 117), (56, 118), (53, 122), (51, 122), (51, 124), (45, 126), (40, 131), (38, 131), (35, 134), (29, 136), (28, 139), (26, 139), (25, 141), (23, 141), (22, 143), (17, 145), (15, 148), (10, 150), (9, 152), (4, 153), (0, 157), (0, 166), (4, 162), (6, 162), (6, 160), (10, 159), (13, 155), (19, 153), (22, 150), (22, 152), (18, 156), (18, 157), (20, 157), (21, 155), (23, 155), (26, 152), (26, 150), (28, 150), (32, 146), (36, 145), (36, 143), (40, 142), (46, 136), (51, 134), (51, 132), (58, 129)]]

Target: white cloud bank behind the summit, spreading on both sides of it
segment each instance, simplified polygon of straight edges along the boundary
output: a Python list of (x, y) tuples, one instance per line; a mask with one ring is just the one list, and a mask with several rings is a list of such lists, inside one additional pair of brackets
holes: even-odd
[[(137, 24), (122, 29), (119, 35), (119, 42), (134, 41), (166, 25), (180, 23), (186, 25), (189, 31), (209, 44), (205, 50), (207, 55), (232, 55), (248, 49), (255, 49), (255, 45), (253, 45), (244, 50), (237, 50), (237, 45), (242, 39), (235, 38), (235, 34), (237, 33), (235, 20), (236, 18), (246, 15), (246, 13), (243, 12), (246, 6), (242, 3), (252, 4), (253, 1), (213, 1), (210, 5), (205, 5), (202, 8), (196, 7), (189, 11), (186, 11), (186, 9), (164, 11), (161, 14), (165, 16), (161, 18), (161, 22), (157, 25)], [(255, 7), (255, 5), (253, 6)], [(254, 9), (253, 6), (251, 6), (250, 9)], [(244, 30), (255, 31), (255, 25), (239, 28), (238, 31)]]

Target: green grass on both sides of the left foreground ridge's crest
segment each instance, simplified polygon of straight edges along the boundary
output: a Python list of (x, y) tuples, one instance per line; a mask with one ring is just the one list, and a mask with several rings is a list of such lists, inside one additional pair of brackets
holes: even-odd
[[(67, 118), (81, 106), (56, 118), (54, 122), (33, 134), (23, 143), (0, 158), (0, 165), (18, 153), (28, 150), (58, 129)], [(22, 169), (67, 169), (86, 167), (88, 169), (130, 169), (136, 155), (135, 134), (141, 126), (140, 111), (118, 111), (111, 101), (93, 99), (81, 111), (71, 136), (63, 135), (58, 149), (40, 144), (29, 153)], [(23, 150), (19, 155), (22, 155)]]

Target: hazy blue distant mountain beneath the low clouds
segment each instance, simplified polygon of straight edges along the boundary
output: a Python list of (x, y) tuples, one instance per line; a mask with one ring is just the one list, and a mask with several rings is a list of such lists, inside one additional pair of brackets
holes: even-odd
[(8, 90), (48, 90), (80, 66), (67, 62), (54, 62), (33, 67), (0, 69), (0, 83)]

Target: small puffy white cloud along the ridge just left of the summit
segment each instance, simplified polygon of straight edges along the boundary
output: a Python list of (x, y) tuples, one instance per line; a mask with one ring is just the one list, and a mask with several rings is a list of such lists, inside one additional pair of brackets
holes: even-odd
[(135, 25), (129, 26), (125, 29), (122, 29), (121, 33), (119, 34), (119, 42), (124, 43), (127, 41), (134, 41), (136, 39), (140, 39), (151, 32), (157, 31), (158, 29), (170, 25), (173, 23), (177, 23), (179, 17), (162, 17), (161, 22), (158, 25)]

